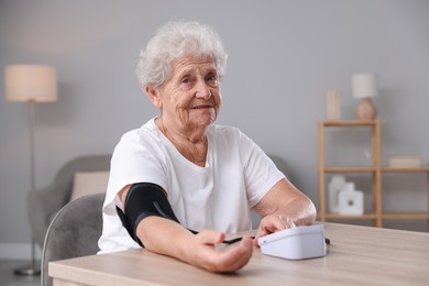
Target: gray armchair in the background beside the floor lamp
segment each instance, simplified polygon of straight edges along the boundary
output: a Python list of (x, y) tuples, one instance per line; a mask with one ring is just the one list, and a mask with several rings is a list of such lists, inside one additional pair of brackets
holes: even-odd
[(87, 155), (66, 163), (54, 182), (45, 188), (30, 191), (28, 215), (34, 241), (42, 248), (52, 219), (70, 199), (76, 172), (109, 170), (111, 155)]

